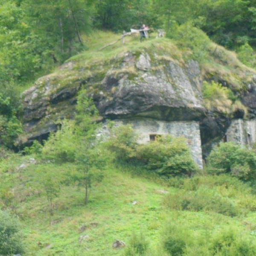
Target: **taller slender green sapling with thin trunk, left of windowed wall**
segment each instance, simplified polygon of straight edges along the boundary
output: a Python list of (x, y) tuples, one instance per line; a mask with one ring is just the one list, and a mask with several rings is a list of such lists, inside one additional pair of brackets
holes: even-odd
[(72, 177), (79, 186), (84, 187), (84, 203), (88, 204), (89, 189), (103, 178), (106, 154), (96, 139), (99, 113), (92, 99), (87, 97), (86, 90), (79, 94), (76, 110), (76, 136), (79, 145), (75, 157), (77, 168)]

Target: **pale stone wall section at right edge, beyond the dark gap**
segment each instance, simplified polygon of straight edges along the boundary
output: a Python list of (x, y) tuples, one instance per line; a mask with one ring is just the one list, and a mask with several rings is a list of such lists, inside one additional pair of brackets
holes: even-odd
[(227, 141), (252, 146), (256, 142), (256, 119), (234, 119), (227, 129)]

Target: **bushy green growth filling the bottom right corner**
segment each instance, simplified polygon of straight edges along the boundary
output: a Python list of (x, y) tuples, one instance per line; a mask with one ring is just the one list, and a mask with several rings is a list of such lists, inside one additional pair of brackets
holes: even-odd
[(170, 256), (253, 256), (255, 239), (238, 229), (221, 227), (200, 233), (189, 224), (168, 221), (163, 228), (161, 247)]

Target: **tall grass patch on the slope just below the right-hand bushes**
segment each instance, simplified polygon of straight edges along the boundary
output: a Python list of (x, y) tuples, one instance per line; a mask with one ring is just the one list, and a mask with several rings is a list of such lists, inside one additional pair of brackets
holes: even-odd
[(195, 175), (178, 180), (174, 177), (168, 181), (178, 189), (164, 199), (164, 204), (172, 210), (239, 216), (256, 209), (254, 187), (229, 174)]

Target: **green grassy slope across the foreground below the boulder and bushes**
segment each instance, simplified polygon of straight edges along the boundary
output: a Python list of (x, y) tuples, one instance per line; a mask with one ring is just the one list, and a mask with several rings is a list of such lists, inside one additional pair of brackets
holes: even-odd
[[(127, 249), (113, 249), (112, 244), (119, 239), (128, 246), (134, 232), (142, 232), (149, 241), (148, 255), (165, 255), (167, 223), (179, 233), (186, 231), (183, 239), (188, 240), (189, 249), (184, 255), (215, 255), (206, 253), (206, 248), (223, 232), (256, 242), (256, 195), (236, 178), (197, 175), (167, 181), (110, 165), (103, 182), (91, 189), (87, 206), (82, 189), (62, 186), (50, 216), (39, 173), (48, 169), (62, 175), (76, 166), (42, 163), (37, 158), (37, 163), (29, 163), (31, 157), (16, 155), (0, 162), (0, 202), (20, 217), (26, 255), (125, 255)], [(186, 209), (183, 196), (193, 193), (193, 206)], [(89, 237), (79, 243), (84, 235)]]

